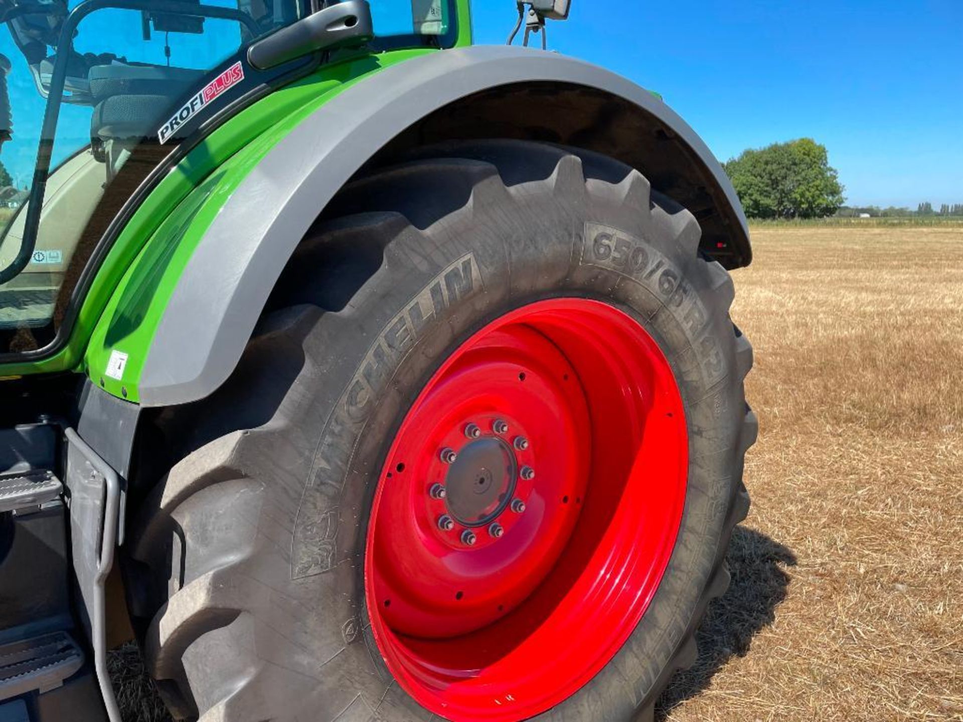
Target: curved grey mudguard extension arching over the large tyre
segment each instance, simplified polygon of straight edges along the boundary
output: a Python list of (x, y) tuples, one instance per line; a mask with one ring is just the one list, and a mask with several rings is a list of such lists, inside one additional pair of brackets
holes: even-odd
[(385, 68), (302, 121), (224, 204), (170, 298), (144, 363), (143, 406), (203, 399), (234, 370), (274, 283), (328, 201), (386, 143), (469, 95), (526, 82), (604, 90), (657, 117), (705, 164), (748, 236), (742, 206), (689, 125), (636, 84), (555, 53), (478, 46)]

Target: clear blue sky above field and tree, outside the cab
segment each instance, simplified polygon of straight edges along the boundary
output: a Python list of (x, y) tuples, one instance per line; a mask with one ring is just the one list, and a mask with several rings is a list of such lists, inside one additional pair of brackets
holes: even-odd
[[(510, 0), (475, 2), (504, 42)], [(553, 49), (659, 90), (720, 160), (809, 136), (854, 205), (963, 203), (963, 0), (573, 0)]]

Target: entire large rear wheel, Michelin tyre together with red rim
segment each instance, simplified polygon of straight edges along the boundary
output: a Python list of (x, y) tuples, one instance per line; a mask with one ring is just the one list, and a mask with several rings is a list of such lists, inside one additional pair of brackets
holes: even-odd
[(157, 421), (186, 451), (128, 569), (175, 716), (651, 715), (728, 584), (756, 436), (699, 236), (548, 144), (353, 181), (231, 380)]

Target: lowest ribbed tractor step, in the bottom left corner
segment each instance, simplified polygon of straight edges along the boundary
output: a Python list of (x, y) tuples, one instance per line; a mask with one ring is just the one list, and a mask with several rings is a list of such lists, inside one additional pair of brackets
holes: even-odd
[(84, 665), (84, 653), (66, 632), (0, 645), (0, 702), (56, 689)]

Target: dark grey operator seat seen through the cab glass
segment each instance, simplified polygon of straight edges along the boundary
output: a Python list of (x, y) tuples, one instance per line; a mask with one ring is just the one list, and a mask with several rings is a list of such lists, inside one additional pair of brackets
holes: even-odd
[(204, 73), (163, 65), (94, 65), (88, 73), (91, 138), (141, 140), (152, 136)]

